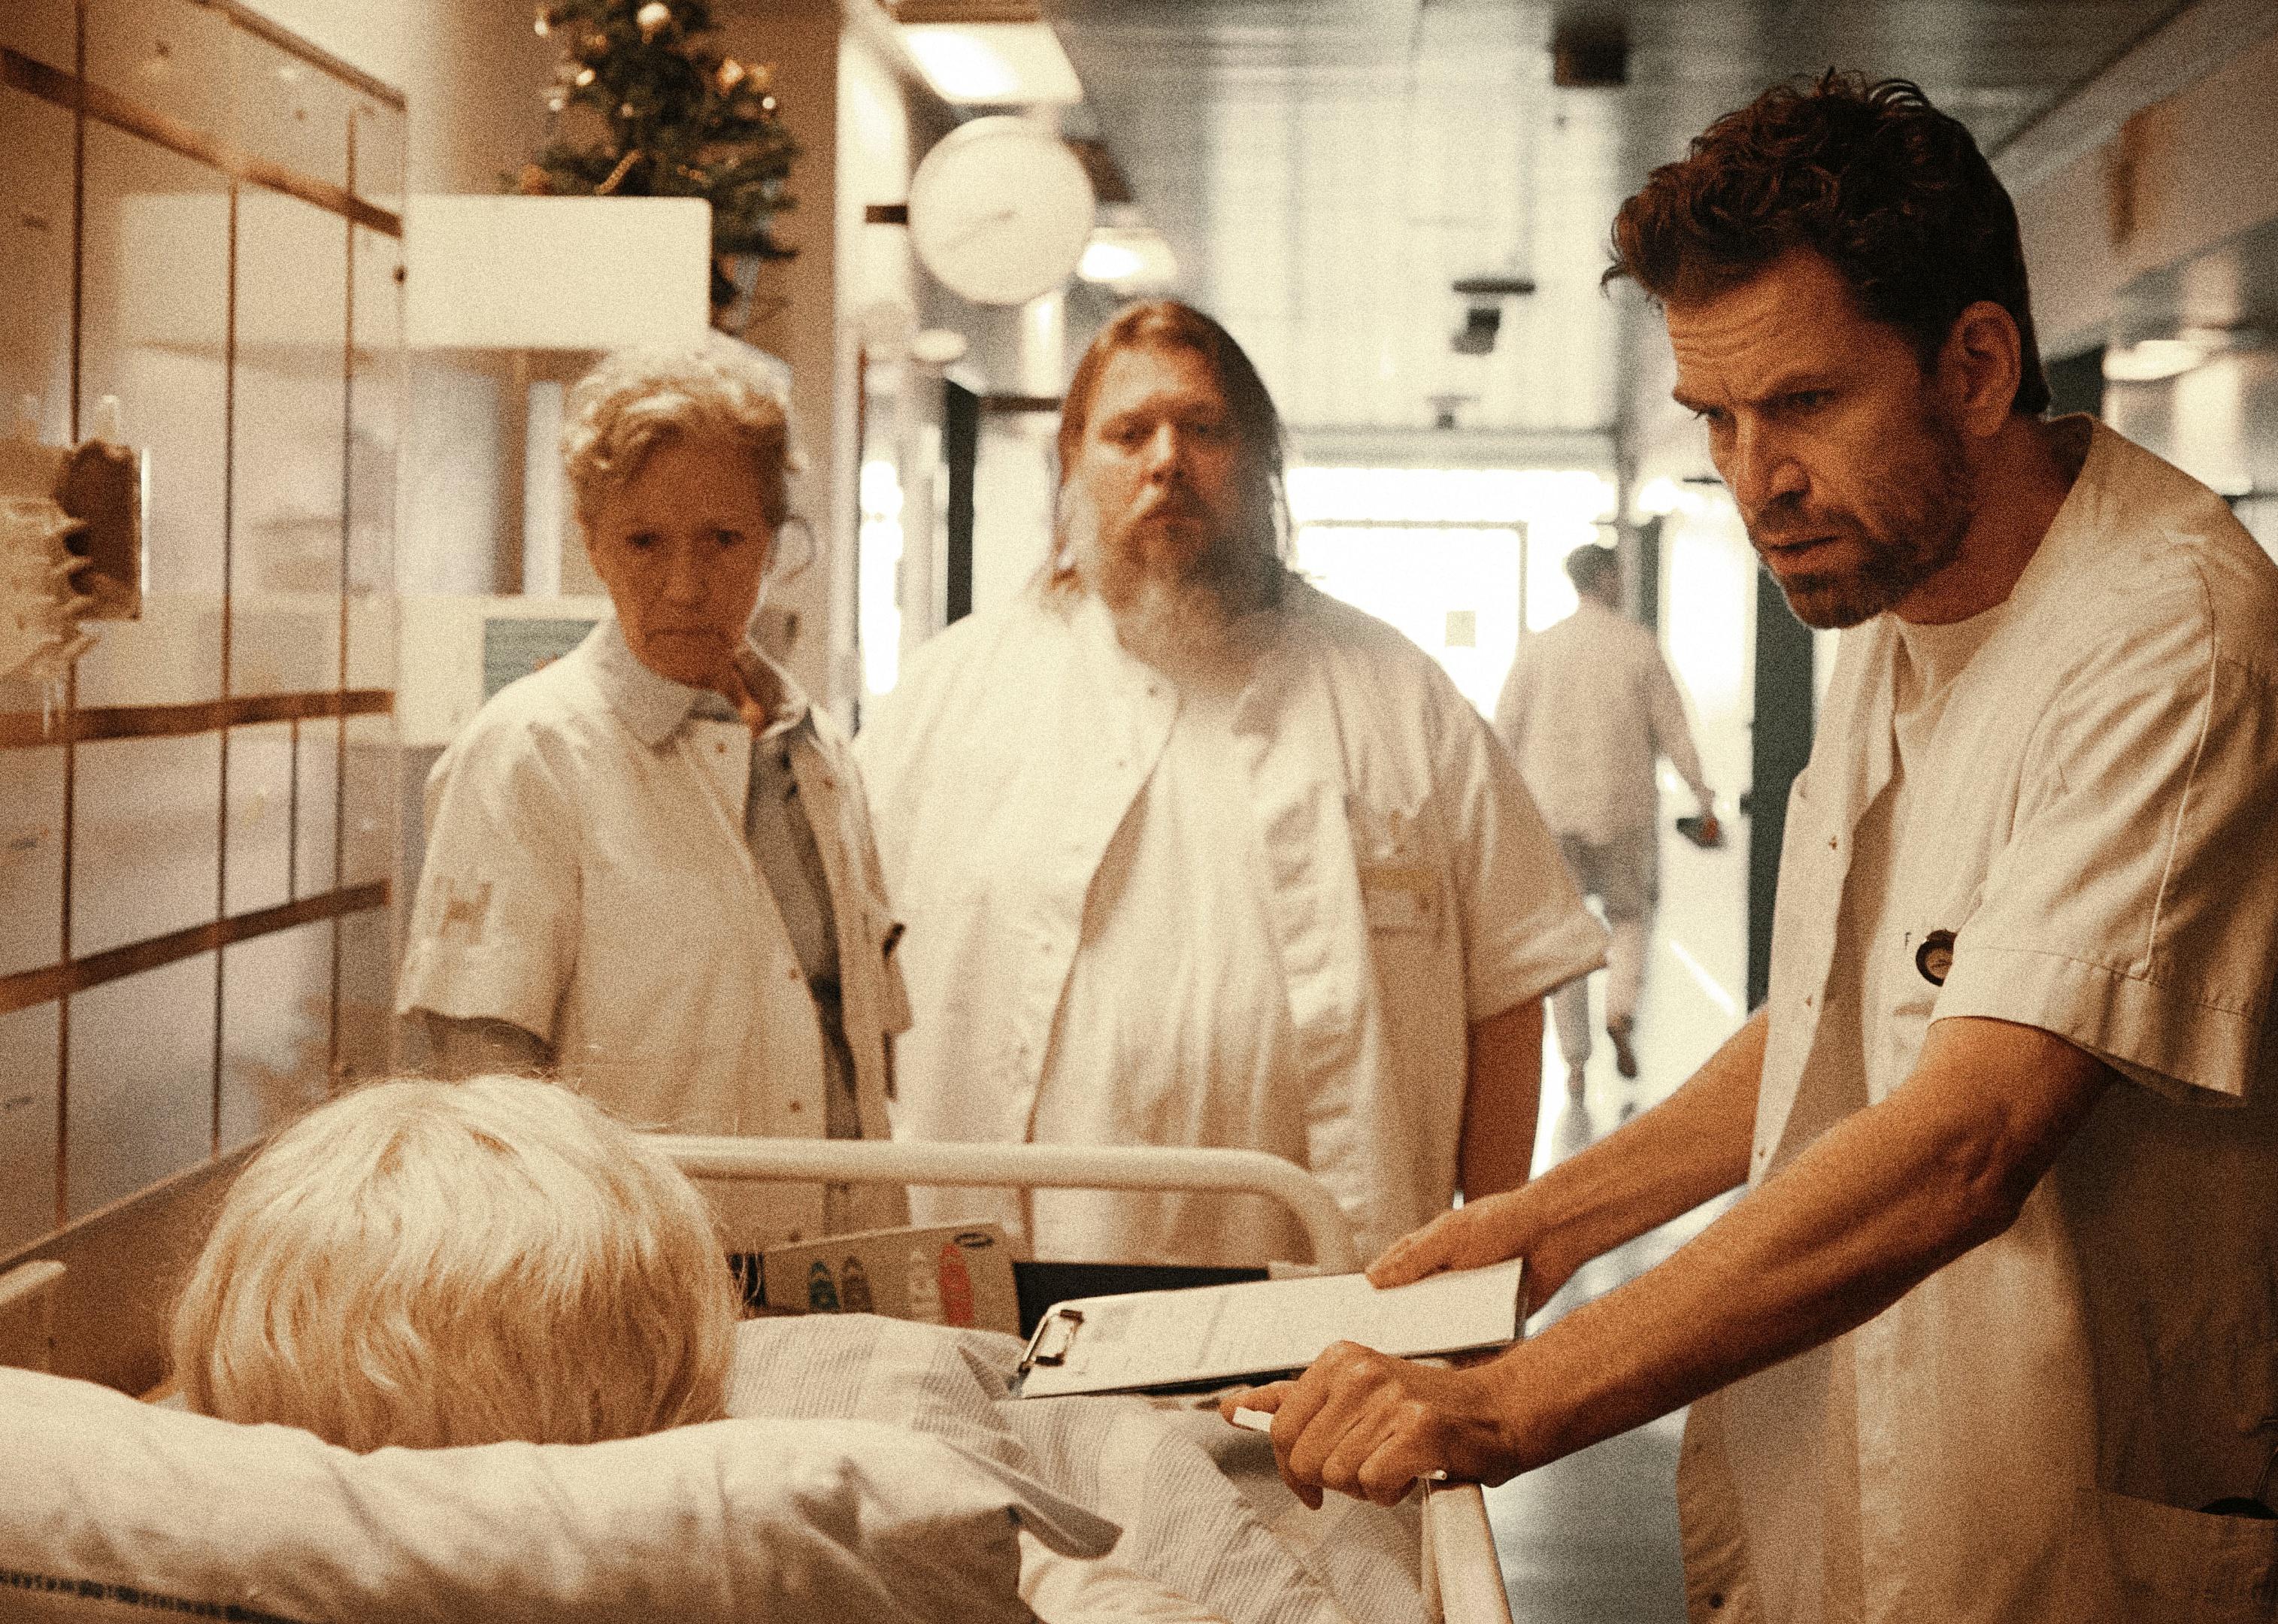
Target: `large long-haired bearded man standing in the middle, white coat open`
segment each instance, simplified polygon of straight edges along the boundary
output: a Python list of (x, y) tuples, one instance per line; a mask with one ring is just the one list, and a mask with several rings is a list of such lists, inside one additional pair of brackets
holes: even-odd
[[(907, 920), (900, 1139), (1239, 1146), (1362, 1246), (1526, 1178), (1542, 993), (1601, 961), (1485, 720), (1283, 563), (1235, 339), (1123, 310), (1068, 383), (1055, 556), (857, 740)], [(1034, 1255), (1305, 1255), (1255, 1196), (911, 1191)]]

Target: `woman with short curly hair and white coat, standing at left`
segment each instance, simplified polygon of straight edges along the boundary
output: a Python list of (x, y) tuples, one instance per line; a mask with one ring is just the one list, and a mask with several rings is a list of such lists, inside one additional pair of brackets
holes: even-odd
[[(615, 617), (435, 763), (396, 1007), (440, 1075), (542, 1071), (672, 1132), (884, 1139), (909, 1004), (861, 777), (747, 631), (800, 465), (781, 369), (722, 337), (631, 351), (565, 419)], [(734, 1250), (907, 1221), (875, 1184), (706, 1194)]]

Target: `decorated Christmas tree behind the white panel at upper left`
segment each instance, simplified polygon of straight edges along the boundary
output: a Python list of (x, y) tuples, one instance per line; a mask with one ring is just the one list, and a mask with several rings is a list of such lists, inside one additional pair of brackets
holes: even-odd
[(713, 205), (713, 305), (738, 296), (722, 260), (788, 260), (772, 223), (800, 148), (775, 71), (711, 43), (704, 0), (547, 0), (538, 32), (563, 59), (547, 91), (554, 139), (510, 187), (572, 198), (704, 198)]

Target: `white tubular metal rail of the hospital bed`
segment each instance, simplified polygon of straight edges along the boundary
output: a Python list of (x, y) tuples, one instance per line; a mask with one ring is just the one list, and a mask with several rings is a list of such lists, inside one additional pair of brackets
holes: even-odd
[[(1262, 1150), (688, 1134), (658, 1134), (654, 1143), (683, 1173), (704, 1180), (1255, 1194), (1278, 1200), (1298, 1219), (1319, 1269), (1360, 1266), (1351, 1225), (1328, 1189), (1296, 1164)], [(1426, 1617), (1440, 1624), (1513, 1624), (1476, 1483), (1424, 1485), (1419, 1574)]]

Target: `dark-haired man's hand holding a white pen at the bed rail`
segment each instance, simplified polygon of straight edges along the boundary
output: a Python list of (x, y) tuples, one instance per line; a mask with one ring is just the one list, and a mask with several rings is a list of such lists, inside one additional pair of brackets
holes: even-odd
[(1433, 1471), (1465, 1483), (1517, 1471), (1497, 1376), (1497, 1364), (1437, 1369), (1337, 1342), (1294, 1383), (1228, 1394), (1219, 1414), (1273, 1414), (1273, 1458), (1305, 1506), (1319, 1510), (1321, 1490), (1392, 1506)]

